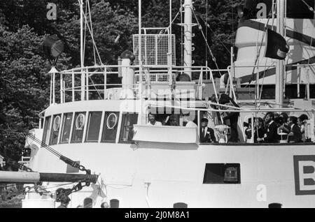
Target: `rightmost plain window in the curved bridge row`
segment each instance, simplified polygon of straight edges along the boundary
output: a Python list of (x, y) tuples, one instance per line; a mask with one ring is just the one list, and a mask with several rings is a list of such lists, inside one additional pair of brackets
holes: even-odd
[(131, 142), (134, 136), (134, 124), (137, 124), (137, 113), (124, 113), (123, 121), (120, 129), (120, 142)]

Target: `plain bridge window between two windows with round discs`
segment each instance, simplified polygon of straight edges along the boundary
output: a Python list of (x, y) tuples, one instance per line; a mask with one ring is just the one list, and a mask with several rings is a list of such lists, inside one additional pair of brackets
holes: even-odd
[(99, 128), (101, 126), (102, 112), (90, 112), (87, 121), (87, 142), (99, 141)]

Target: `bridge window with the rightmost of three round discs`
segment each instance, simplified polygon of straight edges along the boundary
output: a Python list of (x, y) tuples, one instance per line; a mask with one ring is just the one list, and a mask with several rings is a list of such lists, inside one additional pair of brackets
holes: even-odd
[(119, 112), (105, 112), (102, 142), (115, 142)]

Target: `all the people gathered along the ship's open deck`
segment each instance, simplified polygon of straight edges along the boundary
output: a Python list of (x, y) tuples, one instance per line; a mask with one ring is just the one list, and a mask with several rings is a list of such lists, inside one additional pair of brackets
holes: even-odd
[[(226, 94), (221, 94), (218, 102), (213, 96), (211, 98), (212, 104), (218, 103), (218, 105), (211, 105), (211, 108), (218, 110), (220, 106), (221, 110), (225, 112), (215, 112), (216, 118), (219, 120), (217, 124), (224, 124), (230, 126), (230, 133), (228, 135), (228, 142), (239, 142), (239, 133), (237, 131), (237, 124), (239, 121), (239, 112), (229, 112), (228, 110), (235, 110), (239, 108), (239, 105), (233, 101)], [(277, 143), (277, 142), (309, 142), (309, 139), (305, 138), (305, 124), (307, 114), (301, 114), (300, 117), (290, 116), (286, 112), (281, 114), (274, 112), (267, 112), (265, 117), (253, 119), (254, 126), (251, 126), (251, 119), (244, 123), (246, 140), (251, 140), (253, 129), (253, 142), (255, 143)], [(200, 122), (200, 142), (217, 142), (214, 129), (209, 127), (209, 120), (202, 118)], [(168, 116), (165, 120), (156, 121), (155, 114), (148, 114), (148, 123), (150, 126), (179, 126), (178, 119), (174, 114)], [(197, 127), (195, 119), (188, 119), (189, 127)]]

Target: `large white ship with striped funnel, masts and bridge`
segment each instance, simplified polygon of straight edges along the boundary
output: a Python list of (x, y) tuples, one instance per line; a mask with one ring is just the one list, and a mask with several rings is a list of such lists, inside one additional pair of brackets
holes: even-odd
[[(237, 55), (232, 49), (231, 64), (222, 70), (193, 66), (193, 26), (199, 25), (193, 1), (185, 0), (182, 10), (183, 66), (176, 66), (172, 13), (169, 27), (141, 27), (139, 1), (139, 33), (118, 64), (52, 67), (50, 105), (26, 138), (29, 168), (73, 174), (88, 168), (98, 175), (97, 183), (69, 193), (73, 208), (85, 202), (95, 208), (102, 202), (123, 208), (315, 207), (314, 0), (246, 0), (239, 8)], [(81, 34), (83, 11), (80, 1)], [(267, 29), (286, 39), (286, 59), (264, 56)], [(122, 83), (106, 81), (111, 75)], [(221, 94), (237, 106), (219, 105)], [(239, 113), (238, 141), (229, 141), (225, 112)], [(279, 142), (254, 142), (253, 133), (248, 139), (244, 122), (254, 126), (267, 112), (307, 114), (307, 142), (290, 143), (286, 133), (279, 133)], [(161, 126), (150, 126), (149, 114)], [(216, 142), (200, 141), (204, 118)], [(170, 119), (176, 124), (165, 124)], [(186, 126), (191, 121), (196, 126)], [(73, 168), (54, 152), (85, 168)], [(56, 189), (71, 190), (73, 183), (39, 187), (25, 195), (22, 207), (57, 207)]]

